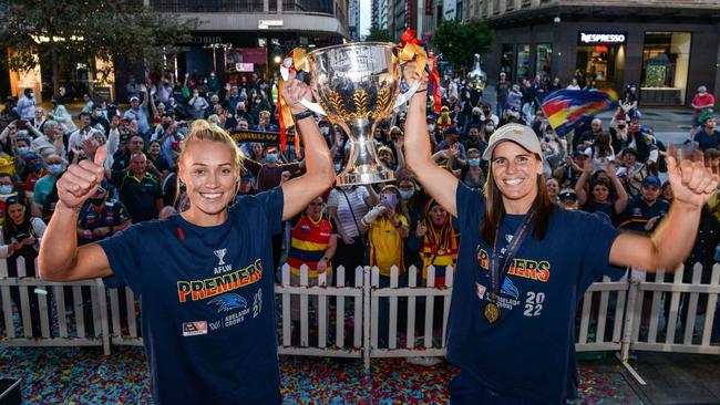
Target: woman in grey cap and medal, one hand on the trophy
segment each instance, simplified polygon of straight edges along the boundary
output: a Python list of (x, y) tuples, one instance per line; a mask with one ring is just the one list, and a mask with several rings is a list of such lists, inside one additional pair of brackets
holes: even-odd
[[(405, 66), (412, 84), (418, 75)], [(577, 301), (621, 267), (673, 269), (692, 247), (702, 205), (718, 176), (700, 163), (668, 158), (675, 202), (652, 237), (619, 232), (595, 215), (557, 209), (542, 176), (532, 128), (505, 125), (491, 138), (484, 195), (431, 159), (424, 83), (410, 101), (405, 156), (423, 187), (461, 226), (448, 321), (448, 360), (461, 368), (453, 404), (547, 403), (575, 397)]]

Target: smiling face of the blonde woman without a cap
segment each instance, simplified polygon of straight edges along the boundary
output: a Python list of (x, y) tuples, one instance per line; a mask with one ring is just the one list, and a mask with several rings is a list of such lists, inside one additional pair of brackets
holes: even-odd
[(238, 168), (222, 142), (194, 141), (185, 145), (179, 160), (179, 178), (191, 201), (189, 215), (203, 222), (224, 212), (235, 197)]

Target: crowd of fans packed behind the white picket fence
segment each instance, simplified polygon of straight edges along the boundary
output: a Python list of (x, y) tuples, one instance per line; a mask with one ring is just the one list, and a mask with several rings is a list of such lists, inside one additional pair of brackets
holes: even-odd
[[(48, 112), (38, 105), (31, 89), (18, 101), (7, 98), (0, 113), (0, 224), (4, 224), (0, 255), (34, 259), (44, 224), (58, 201), (58, 178), (69, 164), (92, 159), (102, 145), (107, 148), (106, 179), (82, 208), (79, 245), (187, 209), (176, 162), (192, 121), (205, 118), (227, 132), (278, 131), (276, 86), (255, 74), (225, 84), (214, 72), (208, 77), (186, 74), (183, 82), (169, 73), (155, 75), (154, 81), (150, 77), (143, 83), (131, 77), (124, 112), (115, 103), (85, 96), (81, 112), (71, 116), (62, 90), (52, 97), (53, 107)], [(428, 104), (433, 159), (469, 187), (485, 187), (487, 162), (482, 156), (493, 133), (503, 125), (521, 123), (529, 125), (541, 139), (553, 202), (600, 212), (616, 227), (646, 233), (668, 212), (672, 190), (667, 181), (660, 181), (668, 152), (652, 129), (640, 123), (636, 110), (618, 107), (610, 122), (595, 118), (568, 134), (557, 134), (542, 108), (533, 104), (536, 96), (560, 89), (557, 79), (547, 83), (538, 76), (512, 84), (501, 73), (494, 110), (485, 102), (482, 87), (471, 80), (459, 83), (445, 76), (442, 84), (441, 113), (432, 113), (430, 98)], [(576, 86), (573, 79), (567, 89)], [(632, 94), (635, 89), (628, 86), (627, 96)], [(693, 136), (695, 150), (702, 152), (706, 165), (717, 169), (720, 134), (713, 103), (707, 89), (700, 87), (693, 98), (693, 122), (699, 127)], [(522, 111), (532, 112), (532, 118)], [(400, 112), (374, 131), (378, 158), (394, 170), (395, 180), (333, 187), (319, 196), (287, 222), (285, 235), (274, 237), (276, 272), (281, 260), (286, 261), (297, 282), (299, 268), (306, 264), (312, 283), (318, 272), (332, 276), (333, 267), (340, 264), (346, 269), (377, 266), (381, 283), (387, 284), (393, 266), (401, 283), (407, 282), (410, 266), (420, 270), (425, 282), (428, 267), (434, 266), (434, 284), (443, 284), (445, 267), (456, 263), (459, 225), (423, 191), (405, 166), (404, 120), (405, 113)], [(339, 173), (347, 164), (349, 138), (323, 117), (317, 123)], [(298, 159), (301, 154), (292, 146), (282, 150), (277, 144), (244, 143), (240, 147), (245, 170), (238, 195), (270, 190), (305, 170), (305, 160)], [(16, 205), (22, 212), (13, 209)], [(720, 199), (713, 198), (706, 211), (696, 249), (687, 261), (688, 266), (703, 264), (703, 280), (710, 276), (720, 241)], [(353, 278), (354, 271), (346, 271), (346, 283), (353, 283)]]

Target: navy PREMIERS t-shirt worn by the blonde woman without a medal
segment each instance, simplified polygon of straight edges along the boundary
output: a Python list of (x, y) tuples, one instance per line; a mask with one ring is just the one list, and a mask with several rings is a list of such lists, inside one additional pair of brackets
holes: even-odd
[(219, 226), (175, 215), (100, 242), (141, 298), (156, 403), (280, 403), (270, 240), (281, 217), (275, 188), (239, 198)]

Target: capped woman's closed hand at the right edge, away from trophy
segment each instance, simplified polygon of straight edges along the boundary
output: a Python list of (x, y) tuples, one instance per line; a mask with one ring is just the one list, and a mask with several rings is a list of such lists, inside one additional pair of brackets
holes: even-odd
[(702, 208), (718, 189), (720, 177), (702, 162), (682, 160), (677, 164), (668, 156), (668, 177), (672, 187), (673, 204), (682, 202), (693, 208)]

